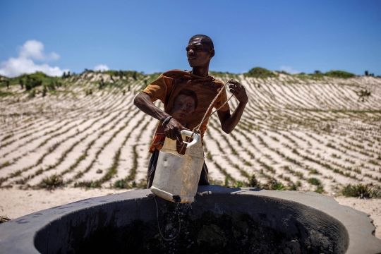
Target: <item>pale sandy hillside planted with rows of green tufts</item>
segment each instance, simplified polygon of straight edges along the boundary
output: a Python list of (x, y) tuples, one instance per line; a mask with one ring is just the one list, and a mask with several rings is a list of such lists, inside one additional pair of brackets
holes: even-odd
[[(230, 135), (210, 119), (211, 182), (325, 195), (359, 183), (380, 190), (381, 78), (273, 74), (212, 73), (239, 80), (250, 102)], [(55, 174), (51, 182), (69, 187), (143, 188), (157, 121), (133, 98), (156, 76), (86, 71), (45, 77), (29, 91), (17, 79), (2, 85), (1, 187), (39, 188)]]

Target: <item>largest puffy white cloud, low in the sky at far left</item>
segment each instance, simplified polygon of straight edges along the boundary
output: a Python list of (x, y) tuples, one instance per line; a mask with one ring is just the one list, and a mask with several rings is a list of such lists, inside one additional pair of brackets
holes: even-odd
[(10, 78), (16, 77), (23, 73), (35, 73), (42, 71), (47, 75), (59, 76), (63, 71), (70, 71), (68, 69), (61, 70), (57, 66), (49, 66), (47, 63), (37, 64), (32, 59), (40, 61), (49, 61), (59, 59), (59, 55), (52, 52), (44, 54), (44, 44), (36, 40), (28, 40), (20, 47), (18, 58), (11, 57), (8, 61), (0, 63), (0, 75)]

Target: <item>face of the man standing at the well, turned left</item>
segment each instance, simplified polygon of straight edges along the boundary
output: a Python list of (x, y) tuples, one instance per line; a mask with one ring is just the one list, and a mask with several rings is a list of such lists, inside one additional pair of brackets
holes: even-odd
[(207, 45), (202, 44), (201, 38), (195, 38), (189, 41), (186, 56), (192, 68), (209, 67), (210, 59), (214, 56), (214, 49), (209, 49)]

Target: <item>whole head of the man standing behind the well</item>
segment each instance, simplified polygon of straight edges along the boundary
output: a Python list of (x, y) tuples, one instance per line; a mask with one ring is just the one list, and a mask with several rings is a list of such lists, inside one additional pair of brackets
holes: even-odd
[(210, 59), (214, 56), (214, 44), (212, 39), (206, 35), (195, 35), (191, 37), (186, 47), (186, 56), (192, 68), (208, 68)]

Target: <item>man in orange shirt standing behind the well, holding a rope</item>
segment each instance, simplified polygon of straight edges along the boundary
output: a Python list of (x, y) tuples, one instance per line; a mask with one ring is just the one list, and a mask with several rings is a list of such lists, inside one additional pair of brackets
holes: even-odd
[[(149, 114), (159, 120), (160, 123), (158, 128), (163, 128), (167, 138), (178, 140), (179, 144), (183, 143), (180, 132), (184, 129), (193, 130), (193, 128), (198, 126), (210, 103), (224, 85), (221, 81), (208, 75), (210, 60), (214, 56), (214, 45), (210, 37), (207, 37), (206, 35), (195, 35), (191, 37), (191, 40), (189, 40), (188, 46), (186, 47), (186, 54), (188, 63), (192, 67), (192, 71), (172, 70), (162, 73), (134, 99), (135, 106), (145, 112), (145, 114)], [(176, 121), (176, 119), (170, 115), (170, 112), (174, 108), (174, 99), (183, 89), (192, 90), (198, 97), (198, 108), (195, 109), (193, 115), (188, 119), (188, 128), (183, 126), (179, 121)], [(219, 95), (213, 105), (213, 107), (217, 109), (221, 107), (221, 109), (217, 111), (217, 114), (222, 126), (222, 131), (225, 133), (231, 133), (231, 131), (234, 130), (238, 121), (241, 119), (243, 109), (245, 109), (246, 104), (248, 103), (245, 87), (243, 87), (241, 83), (236, 80), (230, 80), (229, 90), (239, 102), (238, 107), (233, 114), (230, 114), (229, 104), (224, 104), (227, 100), (225, 90), (222, 91), (221, 95)], [(160, 99), (163, 102), (164, 111), (153, 104), (157, 99)], [(212, 109), (207, 112), (207, 116), (210, 116), (211, 113)], [(199, 127), (202, 137), (206, 128), (207, 121), (204, 121)], [(155, 147), (156, 150), (159, 150), (160, 148), (161, 147), (159, 146)], [(158, 156), (159, 152), (154, 152), (150, 159), (147, 188), (150, 188), (152, 185)], [(198, 184), (209, 184), (205, 162), (202, 167)]]

